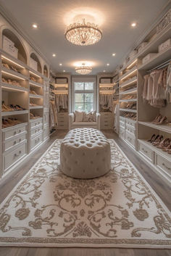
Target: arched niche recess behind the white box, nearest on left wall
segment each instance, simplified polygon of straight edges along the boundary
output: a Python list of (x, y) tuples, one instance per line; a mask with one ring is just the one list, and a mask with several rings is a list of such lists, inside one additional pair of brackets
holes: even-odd
[(20, 59), (22, 62), (27, 64), (27, 54), (26, 51), (22, 45), (22, 42), (19, 38), (12, 32), (12, 30), (9, 30), (8, 28), (4, 28), (2, 30), (2, 36), (7, 36), (13, 43), (14, 46), (18, 49), (18, 56), (17, 59)]

